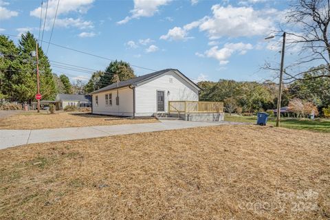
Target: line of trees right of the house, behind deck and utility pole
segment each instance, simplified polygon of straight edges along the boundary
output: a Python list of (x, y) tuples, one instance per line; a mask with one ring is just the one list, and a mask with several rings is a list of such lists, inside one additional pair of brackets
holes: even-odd
[[(327, 69), (316, 67), (310, 69), (303, 78), (286, 84), (283, 89), (281, 106), (291, 107), (292, 111), (307, 115), (305, 111), (324, 114), (330, 106), (330, 78), (322, 78)], [(278, 85), (270, 81), (236, 82), (219, 80), (218, 82), (201, 81), (200, 100), (221, 101), (229, 113), (255, 113), (276, 109)], [(309, 109), (309, 110), (307, 110)]]

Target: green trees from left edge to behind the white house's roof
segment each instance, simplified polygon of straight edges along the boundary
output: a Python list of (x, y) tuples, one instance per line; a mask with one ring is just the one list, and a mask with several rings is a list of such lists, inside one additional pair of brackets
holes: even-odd
[[(9, 102), (34, 101), (36, 95), (36, 39), (30, 32), (22, 34), (18, 45), (8, 36), (0, 35), (0, 100)], [(50, 61), (38, 47), (40, 93), (43, 100), (54, 100), (56, 94), (87, 94), (111, 83), (135, 77), (133, 69), (124, 61), (112, 61), (103, 71), (91, 74), (88, 83), (71, 83), (65, 74), (54, 74)]]

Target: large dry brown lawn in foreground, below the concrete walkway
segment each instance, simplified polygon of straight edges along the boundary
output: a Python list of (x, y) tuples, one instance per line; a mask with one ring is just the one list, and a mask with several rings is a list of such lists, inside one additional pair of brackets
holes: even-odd
[(329, 219), (329, 155), (329, 135), (248, 125), (8, 148), (0, 219)]

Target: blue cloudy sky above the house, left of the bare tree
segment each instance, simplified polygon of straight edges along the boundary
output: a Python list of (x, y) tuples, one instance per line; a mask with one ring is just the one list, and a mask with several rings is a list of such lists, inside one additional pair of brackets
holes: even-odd
[(52, 33), (51, 43), (102, 56), (49, 45), (53, 72), (72, 81), (86, 82), (117, 59), (137, 76), (173, 68), (195, 81), (261, 82), (274, 78), (261, 69), (265, 61), (281, 59), (281, 39), (265, 37), (288, 8), (285, 0), (43, 0), (42, 9), (41, 0), (0, 0), (0, 34), (17, 43), (15, 36), (30, 31), (46, 52)]

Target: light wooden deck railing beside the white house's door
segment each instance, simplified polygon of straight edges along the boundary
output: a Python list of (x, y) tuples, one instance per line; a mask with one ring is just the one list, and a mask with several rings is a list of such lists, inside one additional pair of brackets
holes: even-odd
[(168, 101), (168, 113), (220, 113), (223, 102)]

